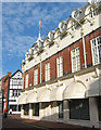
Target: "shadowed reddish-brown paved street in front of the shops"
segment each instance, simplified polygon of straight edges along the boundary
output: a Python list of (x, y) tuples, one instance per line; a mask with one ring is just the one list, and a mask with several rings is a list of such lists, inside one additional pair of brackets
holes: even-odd
[(2, 116), (2, 130), (90, 130), (91, 128), (74, 126), (63, 122), (43, 121), (21, 118), (20, 115)]

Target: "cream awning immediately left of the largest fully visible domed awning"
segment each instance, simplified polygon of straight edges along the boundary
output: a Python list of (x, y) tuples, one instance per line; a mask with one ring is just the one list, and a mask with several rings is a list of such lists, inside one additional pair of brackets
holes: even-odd
[(50, 93), (50, 101), (62, 101), (63, 100), (64, 87), (56, 87)]

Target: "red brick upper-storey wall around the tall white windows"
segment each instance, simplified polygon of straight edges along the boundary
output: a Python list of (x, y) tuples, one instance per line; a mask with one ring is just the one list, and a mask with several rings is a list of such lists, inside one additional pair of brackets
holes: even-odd
[[(88, 66), (92, 64), (90, 40), (100, 35), (101, 35), (101, 28), (98, 30), (94, 30), (93, 32), (85, 37)], [(50, 78), (51, 79), (56, 78), (56, 57), (59, 56), (63, 57), (63, 74), (65, 75), (71, 73), (72, 72), (71, 51), (77, 47), (79, 47), (79, 53), (80, 53), (80, 68), (84, 69), (83, 39), (80, 39), (41, 63), (41, 81), (42, 82), (45, 81), (45, 65), (48, 62), (50, 63)], [(28, 82), (29, 84), (31, 83), (31, 86), (34, 86), (34, 70), (37, 68), (38, 68), (38, 83), (39, 83), (40, 82), (40, 64), (36, 65), (34, 68), (30, 68), (28, 72), (24, 74), (24, 79), (25, 79), (25, 75), (29, 74)]]

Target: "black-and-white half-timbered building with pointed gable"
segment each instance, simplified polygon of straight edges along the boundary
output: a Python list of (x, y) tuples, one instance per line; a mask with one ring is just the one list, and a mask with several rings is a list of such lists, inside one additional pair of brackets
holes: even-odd
[(21, 114), (21, 105), (17, 105), (17, 99), (22, 90), (22, 72), (16, 70), (10, 78), (9, 87), (9, 113)]

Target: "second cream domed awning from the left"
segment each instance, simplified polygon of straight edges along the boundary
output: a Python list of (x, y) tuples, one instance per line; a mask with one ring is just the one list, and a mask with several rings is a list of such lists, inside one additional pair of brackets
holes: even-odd
[(31, 90), (27, 94), (27, 103), (36, 103), (37, 102), (37, 91)]

